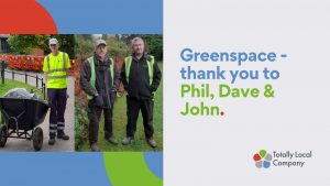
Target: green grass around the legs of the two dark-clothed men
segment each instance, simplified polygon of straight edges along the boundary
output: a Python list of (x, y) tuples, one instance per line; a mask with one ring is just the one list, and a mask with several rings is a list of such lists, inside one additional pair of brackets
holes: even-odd
[[(163, 72), (163, 63), (158, 64), (161, 70)], [(163, 78), (162, 78), (163, 79)], [(105, 140), (103, 131), (103, 116), (100, 119), (99, 127), (99, 138), (98, 143), (102, 151), (163, 151), (163, 80), (155, 95), (155, 107), (154, 107), (154, 139), (157, 142), (157, 147), (152, 149), (145, 141), (142, 113), (140, 111), (136, 133), (134, 140), (129, 145), (113, 145)], [(113, 110), (113, 135), (119, 140), (125, 136), (127, 132), (127, 100), (125, 96), (120, 97), (114, 102)], [(81, 147), (77, 151), (89, 151), (89, 142), (86, 141)]]

